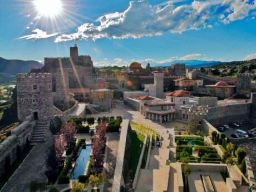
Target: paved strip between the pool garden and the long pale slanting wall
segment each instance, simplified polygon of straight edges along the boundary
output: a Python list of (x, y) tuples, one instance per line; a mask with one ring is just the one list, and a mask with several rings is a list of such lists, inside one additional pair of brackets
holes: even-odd
[(116, 166), (116, 155), (119, 146), (120, 134), (107, 134), (107, 151), (106, 151), (106, 167), (105, 174), (107, 175), (107, 181), (104, 184), (104, 192), (112, 191), (112, 183)]

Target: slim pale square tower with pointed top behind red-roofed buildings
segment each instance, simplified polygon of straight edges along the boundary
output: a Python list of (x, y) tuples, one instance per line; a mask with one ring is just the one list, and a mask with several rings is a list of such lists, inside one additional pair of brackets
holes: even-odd
[(164, 72), (160, 68), (154, 71), (154, 85), (156, 87), (156, 97), (164, 98)]

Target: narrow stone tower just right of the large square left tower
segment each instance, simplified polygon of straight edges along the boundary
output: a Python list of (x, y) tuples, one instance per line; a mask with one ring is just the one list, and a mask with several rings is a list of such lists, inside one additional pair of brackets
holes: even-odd
[(68, 81), (68, 73), (57, 69), (55, 73), (56, 78), (56, 99), (61, 102), (68, 102), (70, 100), (70, 87)]

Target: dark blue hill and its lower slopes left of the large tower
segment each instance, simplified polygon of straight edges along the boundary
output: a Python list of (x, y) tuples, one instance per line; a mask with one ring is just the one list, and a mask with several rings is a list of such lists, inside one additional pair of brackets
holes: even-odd
[(7, 60), (0, 57), (0, 83), (9, 83), (16, 80), (17, 73), (27, 73), (31, 68), (41, 68), (38, 61)]

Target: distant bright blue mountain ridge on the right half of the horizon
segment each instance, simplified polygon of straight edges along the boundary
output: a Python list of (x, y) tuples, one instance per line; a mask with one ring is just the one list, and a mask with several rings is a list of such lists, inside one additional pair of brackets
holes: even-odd
[[(165, 63), (156, 63), (156, 62), (150, 62), (150, 66), (152, 67), (170, 67), (171, 65), (175, 63), (185, 63), (185, 65), (193, 66), (193, 67), (209, 67), (216, 65), (217, 63), (221, 63), (220, 61), (201, 61), (201, 60), (174, 60), (171, 62), (165, 62)], [(146, 66), (147, 62), (141, 62), (142, 66)]]

